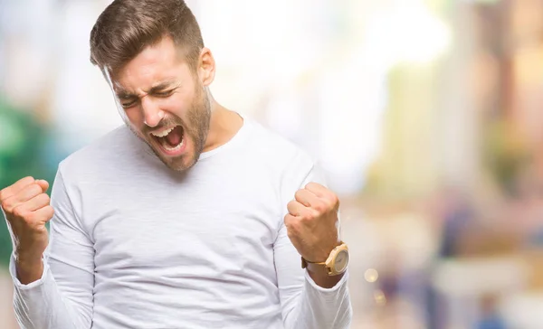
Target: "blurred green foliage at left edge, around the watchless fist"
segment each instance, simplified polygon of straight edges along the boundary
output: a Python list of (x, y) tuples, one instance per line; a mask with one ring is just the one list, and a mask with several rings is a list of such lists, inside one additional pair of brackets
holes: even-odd
[[(47, 164), (47, 136), (47, 127), (30, 113), (0, 98), (0, 189), (29, 175), (52, 183), (55, 168)], [(0, 266), (8, 264), (11, 252), (7, 223), (0, 211)]]

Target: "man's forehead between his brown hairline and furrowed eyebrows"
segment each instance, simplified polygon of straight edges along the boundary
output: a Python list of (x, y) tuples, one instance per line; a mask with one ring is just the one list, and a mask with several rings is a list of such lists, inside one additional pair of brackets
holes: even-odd
[(138, 91), (165, 80), (187, 80), (190, 77), (191, 71), (174, 42), (163, 38), (138, 53), (111, 80), (115, 89)]

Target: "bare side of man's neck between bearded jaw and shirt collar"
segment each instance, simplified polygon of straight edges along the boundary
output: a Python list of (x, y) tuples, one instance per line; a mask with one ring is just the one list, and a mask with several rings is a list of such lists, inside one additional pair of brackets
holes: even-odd
[(243, 126), (243, 118), (212, 99), (209, 132), (204, 152), (226, 144)]

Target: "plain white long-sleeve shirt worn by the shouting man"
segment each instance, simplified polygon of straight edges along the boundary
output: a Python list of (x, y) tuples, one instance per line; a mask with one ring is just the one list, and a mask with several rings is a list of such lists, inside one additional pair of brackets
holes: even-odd
[(348, 328), (345, 275), (317, 286), (283, 224), (310, 156), (244, 118), (185, 174), (119, 127), (59, 165), (43, 277), (14, 279), (34, 329)]

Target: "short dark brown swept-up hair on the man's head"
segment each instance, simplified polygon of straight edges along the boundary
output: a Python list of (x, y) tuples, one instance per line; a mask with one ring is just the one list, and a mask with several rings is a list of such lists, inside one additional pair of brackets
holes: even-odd
[(149, 45), (169, 36), (195, 70), (204, 41), (184, 0), (115, 0), (90, 32), (90, 62), (118, 71)]

